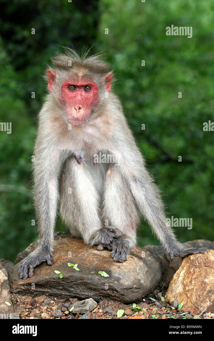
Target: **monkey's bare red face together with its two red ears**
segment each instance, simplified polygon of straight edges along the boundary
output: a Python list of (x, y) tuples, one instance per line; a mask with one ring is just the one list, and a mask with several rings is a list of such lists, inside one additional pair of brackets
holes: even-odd
[[(52, 91), (56, 73), (47, 70), (48, 89)], [(111, 91), (113, 74), (104, 76), (106, 91)], [(65, 108), (65, 119), (73, 126), (83, 125), (90, 116), (91, 110), (99, 102), (98, 86), (90, 79), (66, 80), (61, 86), (59, 100)]]

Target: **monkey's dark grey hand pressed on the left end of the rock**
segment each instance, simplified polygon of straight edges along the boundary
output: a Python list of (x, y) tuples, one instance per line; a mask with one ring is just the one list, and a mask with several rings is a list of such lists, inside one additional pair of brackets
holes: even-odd
[(42, 252), (39, 254), (31, 254), (27, 258), (25, 258), (18, 269), (18, 273), (20, 278), (26, 279), (33, 276), (33, 269), (41, 264), (42, 262), (46, 262), (48, 265), (53, 264), (52, 256), (50, 253)]

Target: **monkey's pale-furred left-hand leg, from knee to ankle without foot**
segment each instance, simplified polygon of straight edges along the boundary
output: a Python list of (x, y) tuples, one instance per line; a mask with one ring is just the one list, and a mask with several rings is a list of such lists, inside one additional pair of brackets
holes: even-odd
[[(94, 168), (98, 181), (99, 169)], [(90, 236), (102, 227), (100, 200), (88, 161), (83, 158), (79, 163), (74, 157), (68, 159), (61, 178), (60, 216), (71, 234), (83, 238), (86, 244), (91, 244)]]

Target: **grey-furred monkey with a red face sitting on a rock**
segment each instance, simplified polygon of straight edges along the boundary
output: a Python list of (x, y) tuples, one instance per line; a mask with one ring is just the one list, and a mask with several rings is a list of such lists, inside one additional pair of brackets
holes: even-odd
[(42, 262), (53, 264), (58, 209), (72, 236), (97, 250), (111, 250), (115, 262), (127, 260), (142, 216), (171, 261), (203, 253), (185, 249), (166, 223), (159, 190), (111, 91), (109, 63), (99, 54), (69, 48), (51, 61), (33, 164), (39, 239), (21, 261), (20, 278), (32, 277)]

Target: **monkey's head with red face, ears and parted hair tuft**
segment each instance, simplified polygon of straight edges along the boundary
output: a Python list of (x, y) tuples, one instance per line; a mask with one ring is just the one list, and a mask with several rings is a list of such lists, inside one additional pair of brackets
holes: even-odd
[(52, 58), (47, 70), (48, 90), (61, 108), (64, 119), (73, 126), (83, 125), (96, 106), (111, 91), (113, 74), (98, 55), (79, 56), (71, 49)]

